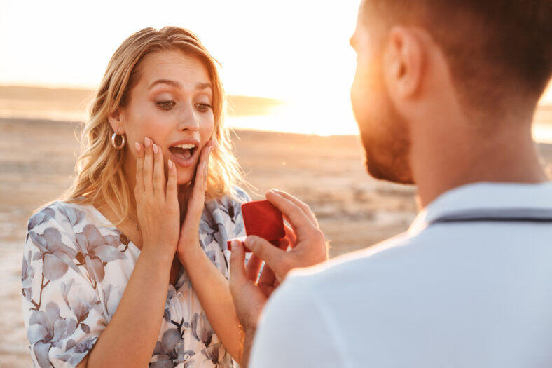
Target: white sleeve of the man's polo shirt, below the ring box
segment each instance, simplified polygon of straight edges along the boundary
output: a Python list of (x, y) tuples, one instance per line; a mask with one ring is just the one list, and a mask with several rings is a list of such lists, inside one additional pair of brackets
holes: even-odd
[(270, 297), (254, 339), (249, 367), (351, 367), (323, 301), (288, 275)]

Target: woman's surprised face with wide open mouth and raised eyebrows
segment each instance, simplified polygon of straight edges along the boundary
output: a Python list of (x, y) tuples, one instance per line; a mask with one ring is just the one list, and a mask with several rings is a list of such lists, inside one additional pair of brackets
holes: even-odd
[(197, 57), (172, 50), (146, 55), (139, 72), (127, 106), (118, 109), (122, 128), (118, 133), (124, 130), (127, 137), (125, 175), (134, 182), (134, 142), (144, 144), (149, 137), (163, 152), (165, 170), (170, 158), (177, 167), (178, 184), (187, 184), (214, 130), (213, 88), (207, 68)]

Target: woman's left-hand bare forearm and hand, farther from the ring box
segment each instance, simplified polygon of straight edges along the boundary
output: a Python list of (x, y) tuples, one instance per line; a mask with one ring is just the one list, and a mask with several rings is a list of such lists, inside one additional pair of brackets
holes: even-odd
[(111, 322), (78, 367), (146, 367), (158, 341), (179, 236), (177, 171), (146, 138), (137, 149), (134, 195), (142, 252)]

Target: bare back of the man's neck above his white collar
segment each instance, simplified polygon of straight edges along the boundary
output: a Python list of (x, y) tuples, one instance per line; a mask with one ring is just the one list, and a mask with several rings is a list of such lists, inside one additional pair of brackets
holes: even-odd
[(464, 184), (546, 182), (530, 123), (524, 126), (497, 129), (487, 135), (469, 130), (449, 131), (433, 142), (413, 139), (410, 159), (420, 206), (426, 207), (441, 194)]

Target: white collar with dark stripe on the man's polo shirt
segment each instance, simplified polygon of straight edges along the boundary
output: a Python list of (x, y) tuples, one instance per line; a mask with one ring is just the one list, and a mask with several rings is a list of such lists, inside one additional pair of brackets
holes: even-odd
[(418, 213), (408, 229), (418, 233), (441, 219), (551, 218), (552, 182), (476, 183), (441, 194)]

